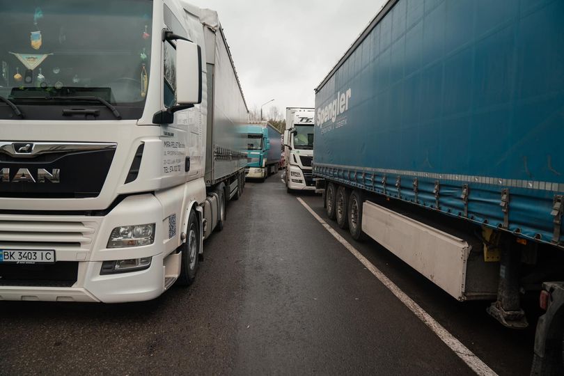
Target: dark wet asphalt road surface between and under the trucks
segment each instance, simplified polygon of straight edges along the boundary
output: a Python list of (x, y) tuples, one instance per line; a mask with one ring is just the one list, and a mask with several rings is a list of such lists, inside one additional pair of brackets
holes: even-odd
[[(204, 243), (189, 288), (139, 304), (0, 302), (0, 375), (473, 375), (297, 201), (279, 175), (248, 182)], [(375, 242), (371, 263), (499, 375), (526, 375), (534, 322), (501, 327)]]

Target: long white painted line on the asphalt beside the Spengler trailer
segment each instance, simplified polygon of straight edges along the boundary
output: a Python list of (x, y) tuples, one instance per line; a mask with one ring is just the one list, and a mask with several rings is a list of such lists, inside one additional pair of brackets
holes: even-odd
[(320, 216), (318, 216), (318, 214), (315, 213), (313, 209), (311, 209), (311, 207), (309, 207), (309, 205), (304, 202), (304, 200), (302, 200), (299, 197), (297, 197), (297, 200), (299, 201), (299, 203), (301, 203), (301, 205), (304, 205), (304, 207), (308, 210), (308, 212), (310, 212), (311, 215), (313, 215), (313, 217), (317, 219), (319, 223), (322, 224), (322, 226), (327, 231), (329, 231), (329, 233), (331, 233), (331, 235), (333, 235), (336, 240), (338, 240), (338, 242), (340, 242), (340, 244), (343, 244), (343, 246), (345, 246), (345, 248), (348, 249), (350, 253), (352, 253), (354, 257), (356, 257), (366, 267), (366, 269), (370, 270), (370, 272), (374, 274), (374, 276), (380, 282), (382, 282), (384, 286), (386, 286), (386, 288), (388, 288), (392, 292), (392, 294), (395, 295), (395, 297), (400, 299), (400, 301), (403, 304), (405, 304), (407, 308), (409, 308), (409, 311), (412, 311), (419, 318), (419, 320), (423, 321), (423, 323), (425, 323), (425, 325), (427, 325), (429, 329), (431, 329), (434, 332), (434, 334), (437, 334), (437, 336), (448, 347), (450, 347), (451, 350), (453, 350), (453, 352), (455, 352), (455, 354), (457, 354), (457, 356), (464, 361), (464, 363), (467, 363), (467, 365), (477, 375), (488, 375), (488, 376), (497, 375), (494, 372), (494, 370), (492, 370), (492, 368), (489, 368), (483, 361), (481, 361), (480, 358), (476, 357), (476, 354), (471, 352), (468, 349), (468, 347), (462, 345), (460, 340), (457, 340), (455, 336), (453, 336), (446, 329), (444, 329), (444, 327), (441, 324), (439, 324), (437, 321), (435, 321), (434, 318), (431, 317), (431, 315), (425, 312), (425, 310), (423, 310), (421, 306), (419, 306), (415, 301), (413, 301), (412, 298), (408, 297), (405, 294), (405, 292), (400, 290), (400, 288), (398, 288), (398, 286), (395, 285), (395, 283), (390, 281), (390, 279), (387, 276), (385, 276), (384, 273), (380, 272), (380, 270), (377, 267), (375, 267), (373, 263), (370, 263), (370, 261), (368, 261), (367, 258), (362, 256), (362, 254), (359, 251), (357, 251), (357, 249), (355, 249), (354, 246), (352, 246), (352, 244), (347, 242), (347, 240), (345, 240), (344, 237), (340, 236), (339, 233), (336, 232), (336, 230), (331, 228), (331, 226), (329, 226), (327, 222), (325, 222)]

